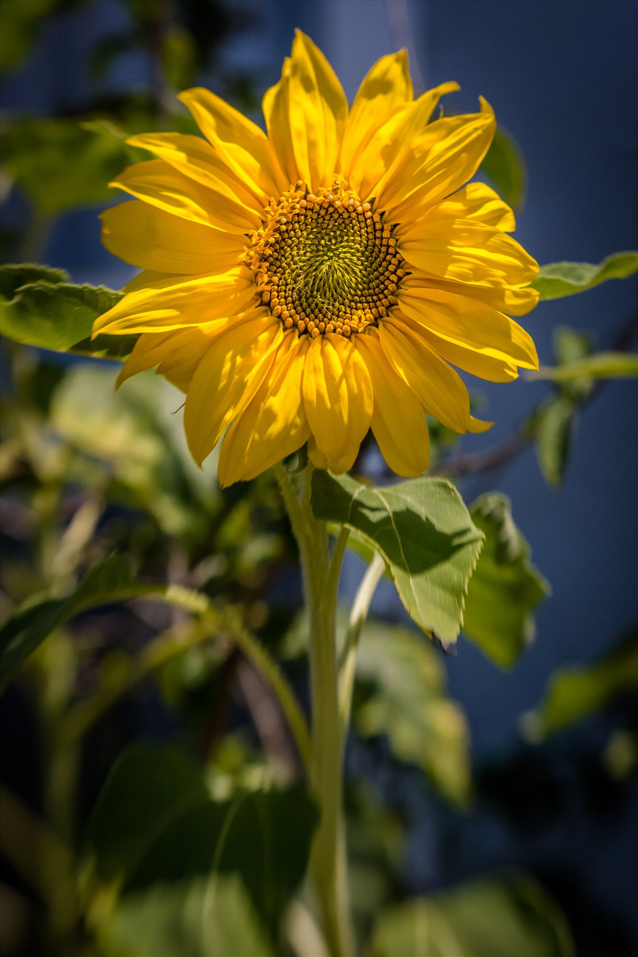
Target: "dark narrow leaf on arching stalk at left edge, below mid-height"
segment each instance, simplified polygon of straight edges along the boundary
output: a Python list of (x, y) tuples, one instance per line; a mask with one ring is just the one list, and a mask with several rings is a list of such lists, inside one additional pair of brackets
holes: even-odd
[(202, 612), (207, 599), (197, 592), (153, 582), (136, 582), (120, 555), (105, 558), (67, 598), (53, 598), (18, 610), (0, 629), (0, 689), (4, 689), (35, 649), (78, 612), (129, 598), (153, 595), (191, 611)]

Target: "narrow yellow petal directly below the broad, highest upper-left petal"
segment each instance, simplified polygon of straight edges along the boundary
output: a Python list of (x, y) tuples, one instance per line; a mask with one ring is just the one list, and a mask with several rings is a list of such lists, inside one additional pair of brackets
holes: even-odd
[(193, 182), (215, 193), (222, 193), (253, 212), (261, 212), (269, 201), (270, 192), (258, 190), (255, 194), (237, 178), (224, 157), (201, 136), (189, 133), (139, 133), (126, 143), (147, 149)]

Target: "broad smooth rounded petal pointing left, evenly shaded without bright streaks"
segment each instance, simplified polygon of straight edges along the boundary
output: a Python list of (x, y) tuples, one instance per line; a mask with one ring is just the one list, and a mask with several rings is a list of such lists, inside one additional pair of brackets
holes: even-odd
[(103, 211), (101, 240), (109, 253), (133, 266), (166, 274), (212, 273), (239, 261), (241, 235), (191, 223), (134, 199)]

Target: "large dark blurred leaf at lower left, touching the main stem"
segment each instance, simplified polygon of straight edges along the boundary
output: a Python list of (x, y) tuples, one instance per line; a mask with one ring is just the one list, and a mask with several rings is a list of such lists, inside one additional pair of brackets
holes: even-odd
[(305, 874), (317, 819), (301, 785), (214, 801), (186, 756), (135, 746), (104, 785), (88, 842), (99, 873), (120, 871), (127, 894), (198, 875), (239, 874), (276, 940), (283, 908)]

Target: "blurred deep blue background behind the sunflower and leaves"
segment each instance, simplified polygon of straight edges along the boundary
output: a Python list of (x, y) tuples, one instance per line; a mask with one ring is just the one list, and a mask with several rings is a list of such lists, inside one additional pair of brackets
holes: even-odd
[[(278, 78), (295, 27), (329, 57), (350, 99), (378, 56), (407, 45), (426, 87), (448, 79), (461, 84), (446, 100), (447, 111), (473, 111), (481, 94), (516, 137), (528, 170), (517, 238), (539, 262), (598, 262), (638, 245), (638, 7), (630, 0), (235, 0), (230, 6), (253, 26), (225, 47), (226, 62), (215, 73), (200, 78), (212, 89), (224, 68), (242, 67), (253, 73), (261, 94)], [(88, 51), (125, 23), (120, 3), (96, 0), (49, 24), (36, 55), (4, 80), (3, 108), (42, 114), (86, 100)], [(146, 78), (143, 56), (123, 56), (108, 86), (143, 85)], [(132, 270), (101, 249), (96, 213), (62, 217), (44, 259), (69, 269), (77, 281), (119, 287)], [(523, 323), (541, 362), (551, 363), (556, 324), (591, 330), (605, 347), (635, 310), (635, 284), (610, 282), (581, 297), (543, 303)], [(485, 394), (496, 425), (489, 434), (466, 438), (466, 451), (509, 434), (544, 388), (522, 379), (511, 386), (472, 385)], [(519, 716), (539, 701), (557, 666), (593, 659), (635, 624), (637, 412), (634, 383), (613, 383), (601, 392), (582, 414), (559, 491), (541, 478), (532, 450), (497, 473), (462, 484), (466, 501), (493, 488), (511, 498), (534, 562), (553, 590), (538, 614), (537, 641), (514, 671), (499, 671), (465, 642), (446, 662), (451, 695), (469, 717), (478, 767), (519, 746)], [(352, 559), (341, 583), (344, 597), (360, 575)], [(389, 586), (379, 591), (374, 608), (402, 613)], [(583, 808), (574, 807), (560, 833), (546, 835), (542, 846), (513, 835), (479, 808), (469, 818), (443, 821), (461, 848), (448, 857), (434, 838), (443, 812), (425, 799), (415, 801), (408, 874), (416, 889), (504, 861), (541, 866), (553, 859), (586, 875), (589, 892), (612, 920), (636, 924), (635, 795), (604, 831), (592, 830)]]

